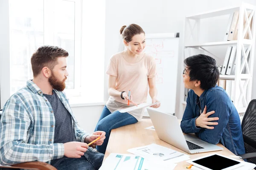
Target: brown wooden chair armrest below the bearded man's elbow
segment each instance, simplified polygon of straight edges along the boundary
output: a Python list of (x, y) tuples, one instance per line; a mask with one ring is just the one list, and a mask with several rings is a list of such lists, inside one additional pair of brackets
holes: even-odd
[(39, 170), (57, 170), (52, 165), (47, 164), (45, 162), (40, 162), (40, 161), (24, 162), (24, 163), (20, 163), (20, 164), (13, 164), (11, 166), (0, 165), (0, 167), (21, 168), (21, 169), (29, 169), (29, 170), (38, 170), (38, 169)]

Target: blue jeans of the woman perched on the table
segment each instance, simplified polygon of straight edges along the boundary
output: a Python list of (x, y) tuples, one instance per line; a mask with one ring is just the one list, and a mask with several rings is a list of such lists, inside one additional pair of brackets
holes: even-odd
[(101, 146), (96, 146), (96, 149), (100, 153), (105, 154), (111, 130), (125, 125), (131, 125), (137, 122), (138, 120), (134, 116), (131, 116), (129, 113), (120, 113), (119, 111), (111, 113), (105, 106), (99, 118), (99, 122), (96, 125), (95, 131), (105, 131), (106, 139)]

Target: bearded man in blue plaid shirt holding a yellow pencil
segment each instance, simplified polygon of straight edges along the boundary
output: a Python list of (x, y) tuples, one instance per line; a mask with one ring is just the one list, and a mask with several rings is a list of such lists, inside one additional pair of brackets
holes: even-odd
[[(105, 132), (92, 134), (79, 127), (64, 94), (68, 52), (42, 46), (31, 57), (33, 80), (12, 95), (0, 120), (0, 164), (44, 161), (58, 170), (98, 170), (104, 155), (88, 143)], [(90, 121), (84, 117), (84, 123)]]

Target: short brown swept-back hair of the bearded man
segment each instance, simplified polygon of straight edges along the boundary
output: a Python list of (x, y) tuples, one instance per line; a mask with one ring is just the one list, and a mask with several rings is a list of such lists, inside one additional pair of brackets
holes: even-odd
[(68, 52), (57, 46), (41, 46), (31, 57), (31, 66), (34, 77), (36, 77), (44, 67), (53, 69), (57, 65), (58, 57), (68, 57)]

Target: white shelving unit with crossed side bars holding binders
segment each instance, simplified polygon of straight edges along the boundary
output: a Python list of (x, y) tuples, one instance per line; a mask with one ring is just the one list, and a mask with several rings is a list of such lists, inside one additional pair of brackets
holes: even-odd
[[(247, 11), (251, 11), (252, 17), (252, 28), (251, 30), (248, 29), (250, 27), (250, 17), (247, 16)], [(200, 36), (200, 24), (201, 19), (207, 19), (211, 17), (218, 17), (221, 15), (227, 15), (232, 14), (235, 11), (239, 11), (239, 31), (238, 31), (238, 40), (232, 40), (232, 41), (219, 41), (219, 42), (199, 42)], [(246, 111), (247, 105), (249, 104), (251, 100), (251, 92), (252, 92), (252, 77), (253, 77), (253, 60), (254, 60), (254, 47), (255, 47), (255, 41), (256, 41), (256, 6), (247, 4), (247, 3), (241, 3), (241, 6), (239, 7), (232, 7), (232, 8), (222, 8), (218, 10), (208, 11), (200, 14), (190, 15), (185, 18), (185, 30), (184, 30), (184, 48), (187, 47), (193, 47), (198, 48), (207, 51), (204, 47), (213, 47), (217, 50), (219, 46), (228, 46), (228, 45), (236, 45), (237, 51), (236, 51), (236, 71), (235, 75), (220, 75), (220, 79), (226, 79), (226, 80), (234, 80), (235, 81), (235, 88), (236, 94), (234, 96), (234, 105), (236, 106), (237, 111), (239, 114), (244, 113)], [(245, 17), (244, 17), (245, 15)], [(243, 28), (245, 18), (245, 28)], [(192, 23), (194, 23), (194, 26), (192, 27)], [(223, 25), (223, 27), (226, 27), (226, 25)], [(249, 33), (249, 40), (244, 39), (245, 33), (248, 30)], [(250, 53), (245, 53), (245, 47), (250, 50)], [(248, 51), (247, 50), (247, 51)], [(207, 51), (210, 53), (209, 51)], [(242, 55), (241, 55), (242, 54)], [(225, 55), (223, 55), (225, 56)], [(249, 62), (247, 62), (247, 57), (250, 56)], [(212, 54), (211, 57), (215, 57), (214, 54)], [(241, 60), (242, 57), (242, 60)], [(184, 56), (183, 56), (184, 59)], [(224, 58), (223, 58), (224, 60)], [(240, 67), (237, 67), (240, 65)], [(246, 69), (246, 74), (242, 74), (243, 69)], [(181, 72), (184, 69), (184, 64), (182, 62), (181, 66)], [(241, 81), (244, 81), (244, 85), (242, 86)], [(180, 90), (180, 115), (183, 115), (184, 110), (186, 108), (186, 101), (184, 101), (184, 95), (185, 95), (185, 88), (183, 84), (183, 78), (180, 82), (181, 90)], [(240, 94), (240, 95), (239, 95)], [(240, 106), (242, 103), (242, 107)], [(240, 105), (239, 105), (240, 104)]]

